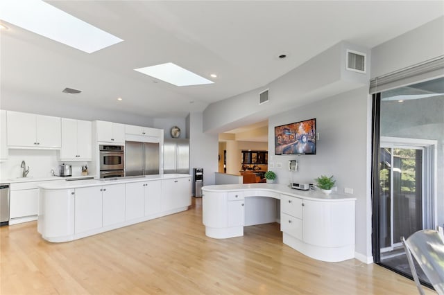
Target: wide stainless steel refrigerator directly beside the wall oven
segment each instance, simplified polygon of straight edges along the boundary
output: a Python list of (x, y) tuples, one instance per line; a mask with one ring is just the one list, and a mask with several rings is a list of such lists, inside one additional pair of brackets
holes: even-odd
[(159, 174), (159, 143), (125, 142), (125, 176)]

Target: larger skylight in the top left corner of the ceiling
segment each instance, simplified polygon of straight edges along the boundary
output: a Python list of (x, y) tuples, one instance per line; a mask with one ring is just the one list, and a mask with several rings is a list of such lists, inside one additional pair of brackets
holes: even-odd
[(123, 41), (40, 0), (1, 0), (0, 19), (86, 53)]

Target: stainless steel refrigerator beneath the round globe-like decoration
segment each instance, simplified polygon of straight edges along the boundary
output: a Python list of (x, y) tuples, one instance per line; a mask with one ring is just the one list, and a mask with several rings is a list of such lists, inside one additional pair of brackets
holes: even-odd
[(164, 139), (164, 173), (189, 174), (189, 139)]

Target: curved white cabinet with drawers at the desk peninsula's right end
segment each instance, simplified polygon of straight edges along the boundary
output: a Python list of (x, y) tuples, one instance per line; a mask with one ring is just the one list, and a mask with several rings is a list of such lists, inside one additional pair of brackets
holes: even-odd
[(355, 257), (355, 201), (325, 202), (281, 195), (284, 244), (318, 260)]

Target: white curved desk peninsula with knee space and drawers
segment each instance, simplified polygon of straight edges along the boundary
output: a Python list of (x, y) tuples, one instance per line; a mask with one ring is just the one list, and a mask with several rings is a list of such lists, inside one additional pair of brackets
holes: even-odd
[(355, 197), (282, 184), (204, 186), (202, 191), (210, 238), (239, 237), (244, 226), (280, 221), (284, 244), (306, 256), (328, 262), (355, 258)]

